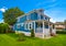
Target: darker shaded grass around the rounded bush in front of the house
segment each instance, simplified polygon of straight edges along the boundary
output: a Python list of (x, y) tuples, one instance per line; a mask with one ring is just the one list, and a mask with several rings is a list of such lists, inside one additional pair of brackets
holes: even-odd
[(19, 34), (8, 33), (7, 35), (10, 36), (10, 37), (13, 37), (16, 42), (26, 42), (26, 41), (29, 41), (29, 39), (31, 39), (31, 41), (40, 39), (40, 38), (37, 38), (37, 37), (24, 36), (24, 41), (21, 41), (21, 39), (19, 41)]

